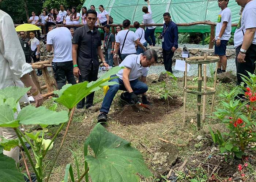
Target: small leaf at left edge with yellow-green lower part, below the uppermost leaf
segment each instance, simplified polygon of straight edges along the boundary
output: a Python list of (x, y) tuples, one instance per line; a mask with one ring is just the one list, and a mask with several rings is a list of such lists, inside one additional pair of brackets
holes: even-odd
[(19, 121), (14, 120), (14, 111), (11, 106), (0, 106), (0, 127), (16, 128), (19, 126)]

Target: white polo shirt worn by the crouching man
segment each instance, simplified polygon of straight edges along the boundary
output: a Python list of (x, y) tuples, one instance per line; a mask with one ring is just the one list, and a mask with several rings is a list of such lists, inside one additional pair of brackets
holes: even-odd
[[(128, 55), (123, 62), (119, 65), (120, 67), (124, 66), (129, 69), (131, 69), (130, 74), (129, 74), (129, 81), (136, 80), (140, 76), (147, 76), (149, 67), (142, 67), (140, 64), (140, 56), (142, 54), (136, 55), (136, 54), (131, 54)], [(116, 74), (120, 79), (123, 79), (123, 69), (118, 71)]]

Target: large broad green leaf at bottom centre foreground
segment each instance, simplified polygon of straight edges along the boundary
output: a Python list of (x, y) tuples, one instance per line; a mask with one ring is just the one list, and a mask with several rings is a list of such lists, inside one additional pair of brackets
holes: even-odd
[(86, 140), (95, 156), (86, 156), (93, 182), (139, 181), (140, 175), (152, 176), (142, 154), (131, 143), (97, 124)]

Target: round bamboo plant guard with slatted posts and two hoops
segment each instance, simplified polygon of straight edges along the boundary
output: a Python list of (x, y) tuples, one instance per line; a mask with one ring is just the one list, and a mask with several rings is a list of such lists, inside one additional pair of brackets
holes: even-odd
[[(212, 95), (212, 106), (211, 113), (213, 111), (214, 100), (215, 100), (215, 88), (216, 88), (216, 78), (217, 78), (217, 68), (219, 57), (216, 56), (195, 56), (187, 58), (185, 60), (185, 83), (184, 83), (184, 114), (183, 114), (183, 123), (185, 124), (185, 110), (186, 110), (186, 97), (187, 93), (197, 95), (197, 128), (200, 130), (201, 127), (201, 96), (203, 95), (203, 113), (202, 119), (205, 120), (205, 110), (206, 110), (206, 95)], [(214, 87), (207, 87), (207, 77), (206, 77), (206, 64), (217, 63), (215, 68), (214, 75)], [(188, 86), (187, 85), (187, 65), (188, 64), (198, 64), (198, 83), (197, 86)], [(202, 86), (202, 64), (203, 64), (203, 86)], [(197, 89), (197, 91), (195, 91)], [(203, 89), (203, 91), (202, 91)]]

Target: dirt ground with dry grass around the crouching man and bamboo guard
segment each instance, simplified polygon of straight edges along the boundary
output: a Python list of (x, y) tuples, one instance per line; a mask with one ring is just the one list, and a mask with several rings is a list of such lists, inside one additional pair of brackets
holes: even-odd
[[(189, 84), (195, 84), (191, 81)], [(138, 149), (148, 165), (154, 177), (143, 178), (142, 182), (166, 182), (166, 181), (190, 181), (204, 182), (204, 181), (256, 181), (256, 167), (255, 167), (255, 153), (252, 152), (248, 163), (251, 167), (244, 171), (238, 171), (237, 165), (244, 164), (246, 161), (225, 161), (223, 155), (219, 154), (218, 147), (216, 147), (211, 139), (204, 137), (202, 130), (197, 130), (196, 126), (196, 97), (188, 94), (186, 123), (183, 125), (183, 98), (182, 98), (182, 82), (173, 84), (167, 83), (167, 87), (173, 92), (172, 99), (168, 101), (161, 98), (158, 90), (161, 88), (161, 83), (153, 83), (149, 85), (148, 99), (152, 103), (148, 106), (150, 110), (136, 106), (122, 106), (118, 101), (118, 92), (110, 113), (108, 115), (107, 130), (131, 142), (131, 145)], [(231, 84), (217, 84), (217, 97), (215, 108), (219, 107), (218, 94), (223, 91), (229, 91), (233, 87)], [(95, 93), (94, 102), (99, 103), (103, 100), (102, 90)], [(211, 97), (207, 98), (207, 103), (211, 103)], [(44, 105), (46, 107), (52, 104), (52, 100), (48, 99)], [(210, 104), (207, 104), (207, 113), (210, 110)], [(59, 107), (58, 110), (63, 110)], [(63, 149), (57, 159), (50, 181), (57, 182), (64, 179), (65, 166), (71, 163), (75, 167), (74, 157), (70, 150), (74, 151), (78, 158), (80, 169), (83, 169), (83, 142), (86, 140), (90, 131), (97, 123), (97, 116), (99, 112), (89, 112), (86, 110), (75, 110), (74, 119), (69, 128), (66, 141)], [(208, 116), (208, 115), (207, 115)], [(207, 118), (202, 126), (208, 124), (210, 119)], [(212, 120), (212, 123), (218, 122)], [(33, 130), (34, 128), (30, 128)], [(54, 134), (58, 127), (49, 127), (49, 132)], [(52, 164), (54, 155), (60, 146), (64, 130), (60, 132), (54, 147), (46, 156), (44, 167), (47, 171)], [(197, 140), (198, 136), (202, 139)], [(49, 138), (51, 138), (49, 136)], [(178, 158), (173, 164), (167, 164), (167, 168), (161, 175), (157, 173), (153, 165), (154, 154), (159, 151), (161, 146), (167, 142), (173, 143), (178, 149)], [(89, 150), (91, 155), (92, 151)], [(76, 170), (74, 173), (76, 175)], [(170, 174), (168, 174), (170, 173)], [(245, 177), (241, 174), (245, 173)], [(169, 177), (169, 180), (167, 179)]]

